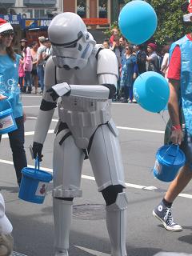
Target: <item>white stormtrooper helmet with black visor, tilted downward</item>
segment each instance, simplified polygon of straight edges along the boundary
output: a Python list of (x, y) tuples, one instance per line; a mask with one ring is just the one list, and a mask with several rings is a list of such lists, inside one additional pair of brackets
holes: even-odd
[(96, 42), (78, 14), (58, 14), (50, 22), (48, 34), (56, 66), (67, 70), (86, 66)]

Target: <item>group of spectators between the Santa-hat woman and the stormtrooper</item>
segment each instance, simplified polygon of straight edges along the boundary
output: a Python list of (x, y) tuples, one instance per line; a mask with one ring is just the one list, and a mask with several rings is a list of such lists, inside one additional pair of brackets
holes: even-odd
[[(19, 86), (22, 93), (42, 94), (44, 88), (44, 68), (51, 54), (49, 38), (41, 36), (38, 42), (34, 41), (28, 46), (26, 38), (21, 40), (21, 58), (18, 67)], [(38, 86), (41, 88), (38, 91)]]

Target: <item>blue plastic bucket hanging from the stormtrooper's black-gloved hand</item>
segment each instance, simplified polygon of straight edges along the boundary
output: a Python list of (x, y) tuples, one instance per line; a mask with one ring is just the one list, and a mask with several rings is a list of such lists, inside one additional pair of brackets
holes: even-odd
[(36, 159), (35, 168), (25, 167), (22, 169), (22, 182), (18, 198), (27, 202), (43, 203), (47, 187), (52, 179), (52, 174), (39, 169), (39, 161)]

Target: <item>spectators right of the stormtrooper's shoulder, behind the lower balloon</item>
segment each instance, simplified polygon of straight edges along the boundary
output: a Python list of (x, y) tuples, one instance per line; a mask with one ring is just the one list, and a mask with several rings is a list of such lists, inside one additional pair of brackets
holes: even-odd
[(134, 80), (139, 74), (154, 71), (167, 77), (170, 44), (161, 49), (154, 42), (146, 45), (132, 45), (117, 28), (112, 30), (110, 39), (103, 41), (103, 47), (114, 51), (118, 59), (118, 90), (113, 101), (136, 102), (133, 94)]

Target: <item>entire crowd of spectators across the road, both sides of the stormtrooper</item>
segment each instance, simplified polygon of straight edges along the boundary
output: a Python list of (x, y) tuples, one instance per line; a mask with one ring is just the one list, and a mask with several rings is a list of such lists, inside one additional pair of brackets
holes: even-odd
[[(170, 44), (161, 49), (154, 42), (149, 42), (147, 45), (131, 45), (126, 38), (119, 36), (118, 29), (114, 28), (110, 38), (105, 39), (102, 45), (114, 51), (118, 59), (118, 90), (113, 97), (114, 102), (136, 103), (133, 94), (134, 80), (143, 72), (155, 71), (167, 77)], [(41, 36), (38, 42), (34, 41), (30, 46), (26, 38), (21, 40), (22, 58), (18, 68), (18, 83), (22, 93), (42, 94), (44, 68), (51, 53), (49, 38)]]

